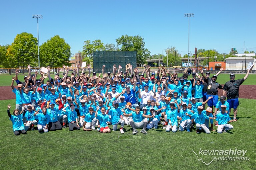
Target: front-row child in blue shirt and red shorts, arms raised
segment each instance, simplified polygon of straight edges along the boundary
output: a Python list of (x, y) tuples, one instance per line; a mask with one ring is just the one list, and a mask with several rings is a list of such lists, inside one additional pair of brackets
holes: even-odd
[[(109, 116), (107, 114), (105, 114), (106, 109), (105, 107), (101, 107), (100, 111), (101, 113), (98, 114), (99, 111), (99, 106), (97, 106), (97, 110), (95, 113), (95, 117), (98, 119), (98, 128), (100, 129), (101, 133), (110, 133), (110, 128), (108, 127), (108, 124), (110, 124), (110, 119)], [(110, 109), (110, 106), (109, 106)]]

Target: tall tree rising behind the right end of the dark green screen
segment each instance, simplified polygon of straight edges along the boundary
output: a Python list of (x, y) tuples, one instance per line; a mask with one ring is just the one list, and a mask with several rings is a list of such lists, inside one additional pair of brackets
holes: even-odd
[(116, 43), (117, 46), (122, 45), (121, 51), (137, 51), (137, 63), (146, 64), (147, 58), (150, 57), (150, 51), (144, 47), (145, 42), (143, 40), (144, 38), (139, 35), (122, 35), (116, 39)]

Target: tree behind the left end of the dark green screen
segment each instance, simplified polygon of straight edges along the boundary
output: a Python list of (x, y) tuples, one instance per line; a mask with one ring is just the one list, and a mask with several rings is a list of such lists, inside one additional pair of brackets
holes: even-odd
[[(108, 46), (108, 47), (111, 47)], [(91, 40), (86, 40), (84, 41), (84, 46), (83, 46), (83, 51), (82, 56), (84, 56), (83, 61), (86, 62), (87, 64), (92, 65), (93, 64), (93, 52), (94, 51), (105, 51), (105, 46), (104, 44), (101, 42), (101, 40), (94, 40), (91, 42)]]

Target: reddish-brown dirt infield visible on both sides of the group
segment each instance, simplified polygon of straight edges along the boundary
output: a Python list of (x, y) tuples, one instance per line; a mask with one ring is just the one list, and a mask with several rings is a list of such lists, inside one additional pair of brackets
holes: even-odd
[[(9, 100), (16, 98), (10, 86), (2, 86), (0, 87), (0, 91), (0, 100)], [(256, 96), (254, 94), (255, 91), (256, 85), (240, 85), (239, 98), (256, 99)], [(218, 95), (222, 95), (222, 90), (218, 91)]]

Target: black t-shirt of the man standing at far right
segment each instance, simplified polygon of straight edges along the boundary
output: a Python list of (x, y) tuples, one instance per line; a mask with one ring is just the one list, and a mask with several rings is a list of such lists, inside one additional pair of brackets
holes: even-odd
[(227, 99), (239, 97), (239, 87), (243, 82), (244, 78), (225, 83), (223, 90), (227, 92)]

